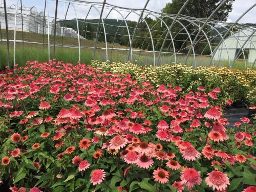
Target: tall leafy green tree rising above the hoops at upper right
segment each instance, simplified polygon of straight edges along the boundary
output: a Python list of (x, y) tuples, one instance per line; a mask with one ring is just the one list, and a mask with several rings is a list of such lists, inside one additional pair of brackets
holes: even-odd
[[(215, 12), (211, 19), (226, 21), (229, 12), (232, 11), (232, 3), (234, 1), (235, 0), (227, 0)], [(162, 13), (177, 14), (185, 2), (186, 0), (173, 0), (172, 3), (166, 4), (166, 6), (162, 9)], [(208, 18), (222, 2), (223, 0), (190, 0), (185, 8), (181, 11), (181, 14), (189, 17)], [(173, 22), (173, 19), (166, 17), (164, 18), (164, 20), (169, 26)], [(190, 38), (193, 41), (197, 34), (198, 27), (187, 22), (184, 19), (179, 19), (179, 22), (186, 26), (186, 29), (190, 34)], [(197, 24), (199, 25), (199, 23)], [(207, 32), (210, 30), (210, 27), (206, 26), (203, 30)], [(187, 50), (186, 48), (190, 44), (190, 41), (188, 40), (188, 35), (186, 34), (181, 24), (175, 23), (172, 28), (172, 32), (173, 35), (176, 36), (174, 41), (175, 48), (177, 50), (181, 50), (180, 52), (185, 52)], [(202, 35), (202, 33), (200, 35)], [(194, 47), (196, 54), (200, 54), (201, 46), (205, 46), (205, 42), (206, 41), (201, 41)]]

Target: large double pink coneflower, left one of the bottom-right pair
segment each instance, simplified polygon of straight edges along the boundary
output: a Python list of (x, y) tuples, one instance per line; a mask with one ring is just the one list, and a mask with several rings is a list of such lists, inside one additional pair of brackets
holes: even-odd
[(181, 182), (191, 189), (195, 184), (200, 184), (202, 179), (199, 177), (200, 172), (194, 168), (187, 168), (182, 171), (180, 179)]

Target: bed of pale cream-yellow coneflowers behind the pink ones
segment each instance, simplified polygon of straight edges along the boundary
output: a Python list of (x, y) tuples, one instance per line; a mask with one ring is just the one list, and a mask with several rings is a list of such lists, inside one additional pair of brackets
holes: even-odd
[(256, 71), (241, 71), (227, 69), (226, 67), (198, 67), (181, 63), (166, 64), (161, 66), (138, 66), (131, 62), (99, 62), (92, 60), (91, 66), (95, 69), (102, 69), (104, 72), (118, 73), (125, 75), (129, 73), (138, 81), (150, 81), (158, 87), (160, 84), (171, 84), (181, 87), (184, 91), (196, 91), (199, 86), (203, 86), (207, 92), (219, 87), (221, 94), (219, 101), (227, 99), (233, 101), (247, 101), (247, 92), (256, 87)]

